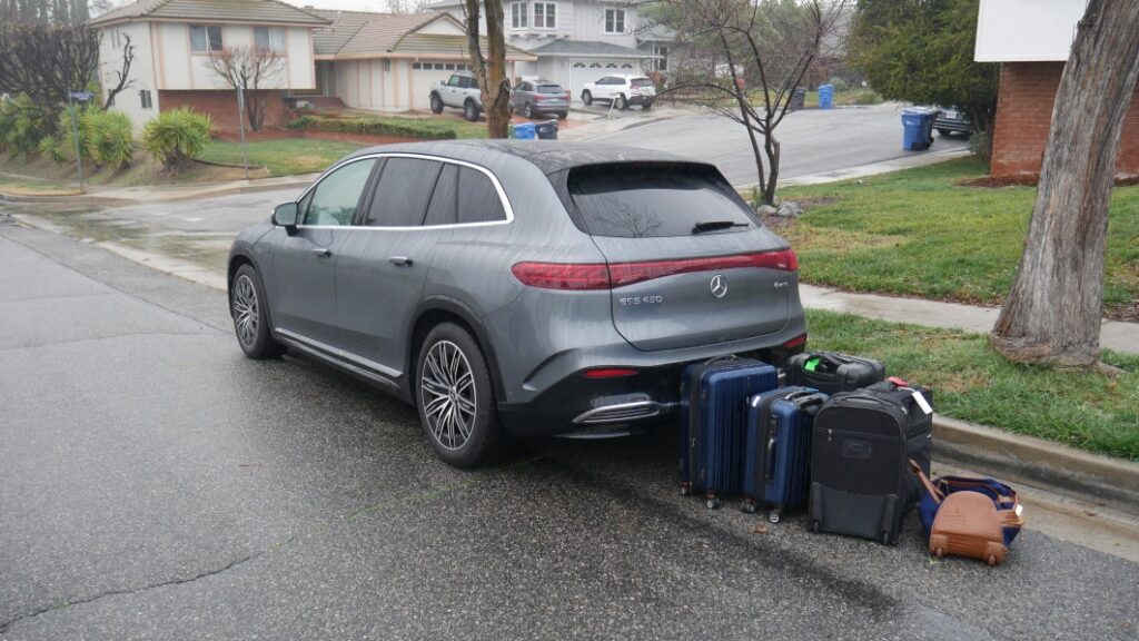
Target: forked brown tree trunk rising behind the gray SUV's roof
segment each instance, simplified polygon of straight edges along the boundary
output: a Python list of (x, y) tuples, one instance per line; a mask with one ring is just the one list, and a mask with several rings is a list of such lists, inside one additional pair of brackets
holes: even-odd
[(510, 81), (506, 76), (506, 34), (502, 0), (483, 0), (486, 13), (486, 55), (478, 33), (478, 0), (464, 0), (467, 18), (467, 48), (475, 80), (483, 92), (486, 132), (491, 138), (506, 138), (510, 127)]

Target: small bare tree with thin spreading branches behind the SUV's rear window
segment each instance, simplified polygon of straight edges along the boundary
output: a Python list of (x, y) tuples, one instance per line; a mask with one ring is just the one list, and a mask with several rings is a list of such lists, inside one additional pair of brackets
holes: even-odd
[[(846, 0), (659, 0), (661, 24), (706, 64), (703, 78), (678, 82), (673, 95), (711, 107), (743, 124), (752, 143), (760, 194), (773, 204), (780, 144), (776, 129), (792, 107), (795, 89), (826, 57)], [(764, 171), (764, 161), (767, 170)]]

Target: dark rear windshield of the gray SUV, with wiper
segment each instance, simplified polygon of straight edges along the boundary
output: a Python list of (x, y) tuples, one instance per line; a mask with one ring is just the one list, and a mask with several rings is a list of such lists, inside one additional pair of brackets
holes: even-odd
[(585, 232), (595, 236), (688, 236), (702, 222), (759, 226), (720, 172), (706, 164), (597, 164), (570, 172), (566, 188)]

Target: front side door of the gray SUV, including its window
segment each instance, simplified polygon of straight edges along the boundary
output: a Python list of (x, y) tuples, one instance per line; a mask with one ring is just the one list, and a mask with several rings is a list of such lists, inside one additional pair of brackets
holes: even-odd
[(301, 224), (273, 251), (272, 319), (277, 332), (317, 349), (337, 348), (336, 262), (377, 161), (349, 161), (301, 198)]

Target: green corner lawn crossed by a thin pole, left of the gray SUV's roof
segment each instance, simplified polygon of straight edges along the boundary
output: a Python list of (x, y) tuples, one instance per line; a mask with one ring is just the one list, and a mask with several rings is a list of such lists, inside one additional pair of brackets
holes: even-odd
[[(249, 167), (265, 167), (270, 176), (313, 173), (328, 169), (341, 157), (367, 145), (342, 143), (339, 140), (316, 140), (306, 138), (284, 138), (280, 140), (257, 140), (246, 143)], [(202, 160), (226, 164), (241, 164), (241, 144), (214, 140)]]

